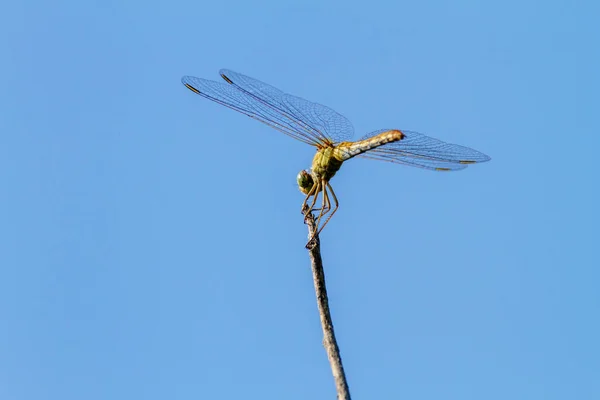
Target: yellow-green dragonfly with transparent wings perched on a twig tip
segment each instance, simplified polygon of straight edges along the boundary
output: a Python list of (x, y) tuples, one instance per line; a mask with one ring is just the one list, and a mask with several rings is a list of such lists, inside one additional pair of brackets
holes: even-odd
[[(354, 133), (352, 123), (331, 108), (228, 69), (219, 73), (223, 82), (193, 76), (184, 76), (181, 82), (202, 97), (316, 147), (311, 169), (300, 171), (296, 179), (298, 188), (305, 195), (301, 208), (305, 218), (318, 211), (315, 215), (316, 229), (306, 244), (307, 248), (314, 246), (315, 237), (339, 208), (329, 181), (342, 163), (353, 157), (432, 171), (458, 171), (491, 159), (469, 147), (401, 129), (380, 129), (351, 141)], [(322, 203), (317, 208), (320, 194)]]

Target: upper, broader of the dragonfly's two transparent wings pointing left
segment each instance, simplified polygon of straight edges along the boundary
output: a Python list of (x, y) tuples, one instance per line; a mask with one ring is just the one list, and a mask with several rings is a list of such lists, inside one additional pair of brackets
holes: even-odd
[(238, 72), (227, 69), (219, 72), (227, 83), (292, 121), (296, 129), (306, 131), (319, 142), (339, 143), (352, 138), (354, 127), (350, 120), (327, 106), (284, 93)]

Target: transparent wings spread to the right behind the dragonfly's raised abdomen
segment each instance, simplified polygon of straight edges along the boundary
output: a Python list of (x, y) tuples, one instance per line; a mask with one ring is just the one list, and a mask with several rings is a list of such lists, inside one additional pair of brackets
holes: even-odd
[[(361, 140), (388, 130), (370, 133)], [(436, 171), (456, 171), (466, 168), (469, 164), (490, 160), (489, 156), (469, 147), (446, 143), (418, 132), (401, 132), (405, 135), (404, 139), (376, 147), (358, 157)]]

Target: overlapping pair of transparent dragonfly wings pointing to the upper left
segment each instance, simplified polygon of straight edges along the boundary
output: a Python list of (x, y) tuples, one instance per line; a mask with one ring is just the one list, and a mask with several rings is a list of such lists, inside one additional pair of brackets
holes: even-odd
[(352, 123), (326, 106), (233, 71), (221, 70), (221, 77), (226, 83), (192, 76), (184, 76), (181, 81), (194, 93), (307, 144), (337, 143), (352, 136)]

